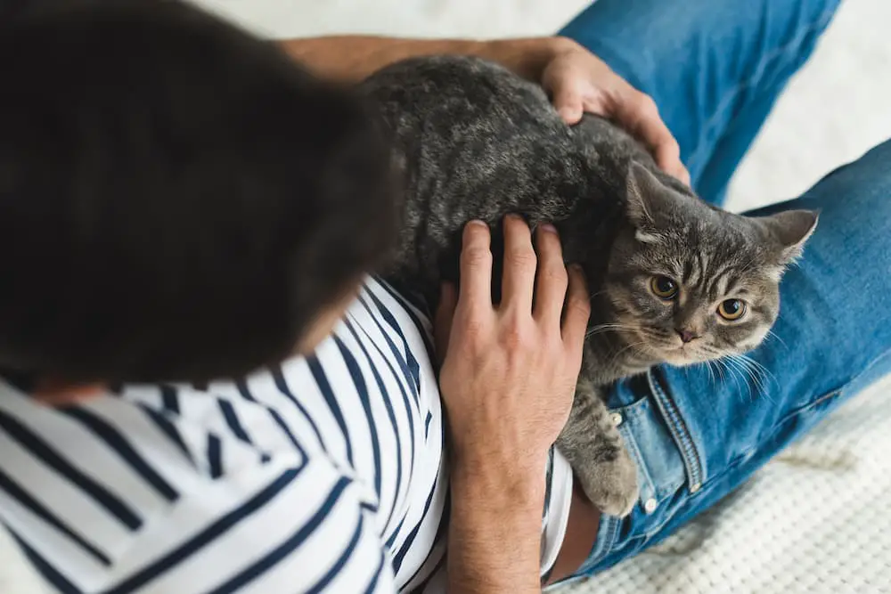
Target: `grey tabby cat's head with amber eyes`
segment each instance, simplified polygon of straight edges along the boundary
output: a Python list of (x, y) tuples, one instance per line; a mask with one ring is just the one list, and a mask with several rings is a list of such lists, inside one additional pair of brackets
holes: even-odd
[(675, 365), (758, 346), (780, 311), (783, 270), (817, 224), (807, 210), (728, 213), (636, 163), (626, 216), (602, 289), (609, 322), (639, 358)]

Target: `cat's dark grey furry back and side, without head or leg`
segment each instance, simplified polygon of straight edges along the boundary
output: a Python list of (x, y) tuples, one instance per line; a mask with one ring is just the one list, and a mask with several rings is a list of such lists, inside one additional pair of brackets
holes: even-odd
[(393, 144), (404, 193), (393, 270), (413, 281), (437, 281), (439, 264), (456, 262), (470, 219), (596, 222), (616, 208), (627, 160), (641, 151), (605, 119), (567, 126), (539, 85), (478, 58), (396, 62), (360, 90)]

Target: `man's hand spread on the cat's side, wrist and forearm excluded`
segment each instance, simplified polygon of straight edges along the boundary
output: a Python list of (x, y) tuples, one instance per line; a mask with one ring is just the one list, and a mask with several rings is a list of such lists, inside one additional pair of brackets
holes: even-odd
[(552, 225), (536, 235), (537, 265), (527, 224), (505, 217), (502, 302), (493, 305), (489, 229), (467, 225), (461, 295), (456, 304), (454, 290), (444, 291), (437, 335), (448, 339), (439, 383), (454, 455), (540, 473), (568, 419), (590, 305)]

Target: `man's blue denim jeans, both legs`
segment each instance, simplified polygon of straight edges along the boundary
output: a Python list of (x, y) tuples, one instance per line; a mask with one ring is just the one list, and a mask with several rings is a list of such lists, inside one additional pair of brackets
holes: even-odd
[[(720, 202), (837, 6), (599, 0), (561, 34), (656, 100), (694, 187)], [(610, 395), (645, 504), (623, 520), (601, 518), (580, 574), (663, 540), (891, 371), (891, 142), (763, 212), (797, 207), (822, 216), (800, 265), (783, 278), (773, 336), (751, 354), (764, 366), (761, 377), (664, 367), (620, 382)]]

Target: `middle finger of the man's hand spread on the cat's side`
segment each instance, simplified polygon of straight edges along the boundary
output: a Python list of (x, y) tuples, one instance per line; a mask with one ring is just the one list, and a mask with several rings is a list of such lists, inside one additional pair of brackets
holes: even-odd
[(532, 312), (537, 258), (532, 248), (532, 232), (522, 218), (504, 217), (504, 273), (502, 305), (519, 312)]

